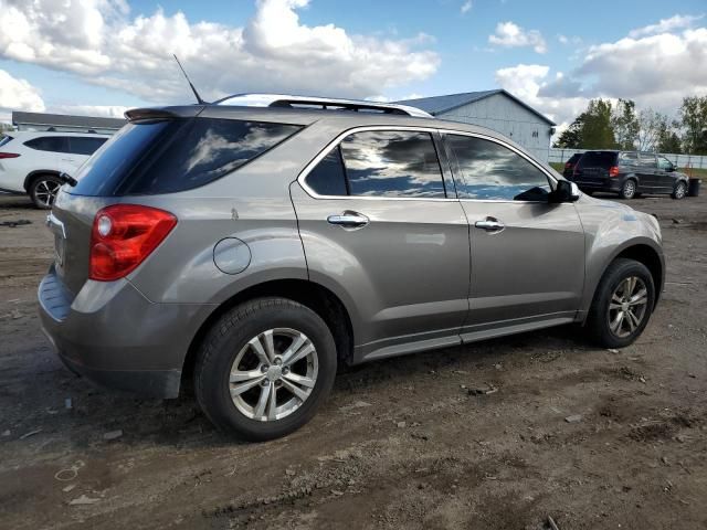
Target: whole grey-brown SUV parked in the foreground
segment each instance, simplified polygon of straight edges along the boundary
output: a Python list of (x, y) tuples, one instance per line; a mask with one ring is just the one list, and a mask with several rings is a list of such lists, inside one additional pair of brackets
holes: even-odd
[(626, 346), (663, 287), (654, 218), (487, 129), (287, 96), (127, 118), (48, 218), (43, 327), (106, 385), (192, 377), (250, 439), (306, 423), (339, 363), (570, 322)]

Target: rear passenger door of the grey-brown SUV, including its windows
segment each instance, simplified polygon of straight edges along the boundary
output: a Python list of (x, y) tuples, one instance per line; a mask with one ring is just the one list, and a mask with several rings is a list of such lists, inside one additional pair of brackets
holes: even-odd
[(468, 226), (435, 135), (358, 129), (292, 188), (309, 276), (354, 309), (359, 359), (460, 342)]

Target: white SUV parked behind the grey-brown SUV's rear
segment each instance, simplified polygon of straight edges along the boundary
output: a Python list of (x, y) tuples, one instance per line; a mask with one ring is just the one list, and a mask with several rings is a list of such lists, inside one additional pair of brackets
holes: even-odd
[(29, 194), (50, 209), (63, 183), (108, 136), (98, 134), (10, 131), (0, 140), (0, 191)]

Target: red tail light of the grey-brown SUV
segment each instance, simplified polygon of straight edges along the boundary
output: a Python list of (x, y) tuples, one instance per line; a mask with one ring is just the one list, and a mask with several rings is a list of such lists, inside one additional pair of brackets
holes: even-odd
[(123, 278), (145, 261), (177, 224), (165, 210), (138, 204), (104, 208), (93, 222), (88, 277)]

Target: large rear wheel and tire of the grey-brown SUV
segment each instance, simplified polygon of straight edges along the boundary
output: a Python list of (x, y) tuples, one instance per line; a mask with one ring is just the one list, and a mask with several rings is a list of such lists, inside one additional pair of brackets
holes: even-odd
[(306, 424), (336, 375), (336, 344), (312, 309), (260, 298), (224, 314), (198, 353), (194, 392), (222, 431), (260, 442)]

